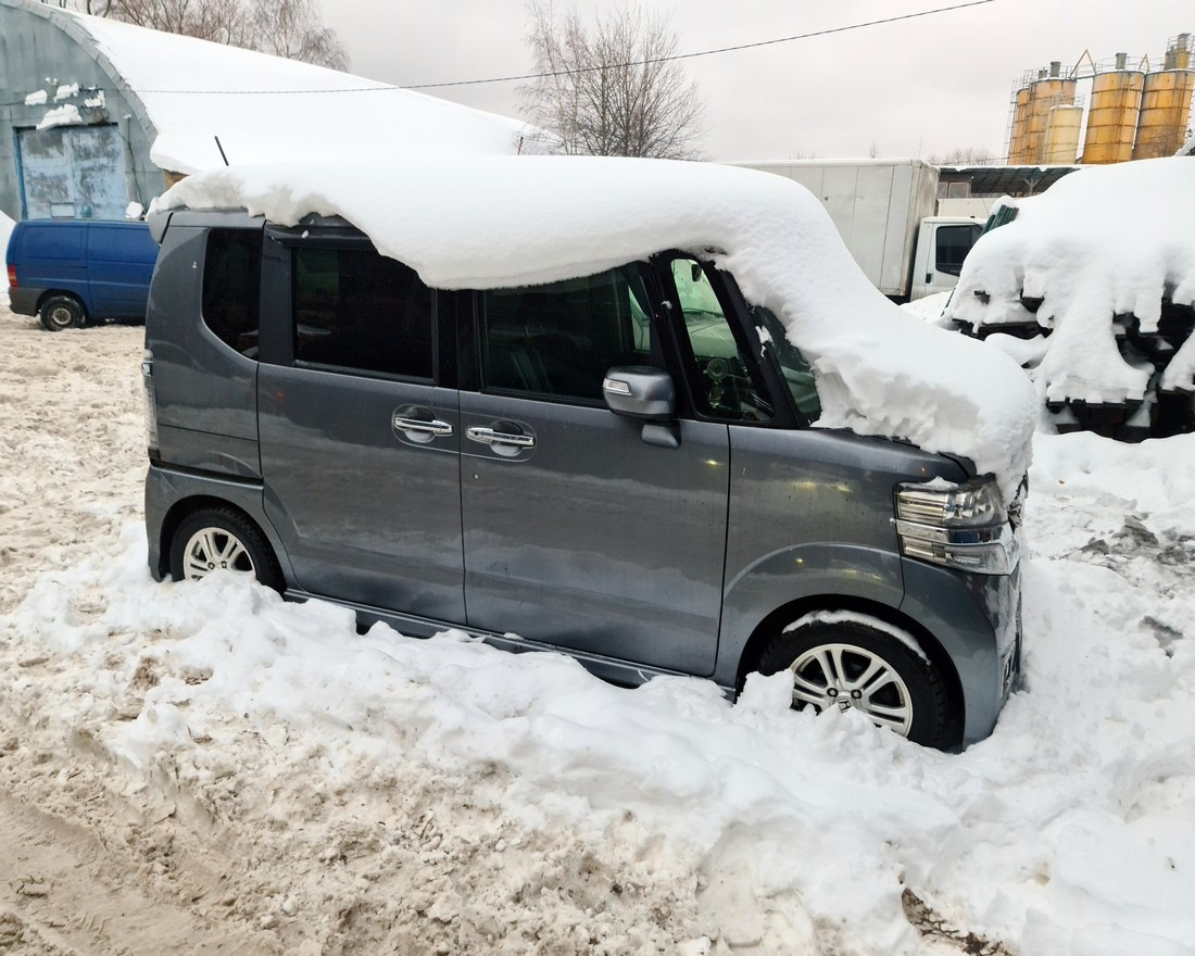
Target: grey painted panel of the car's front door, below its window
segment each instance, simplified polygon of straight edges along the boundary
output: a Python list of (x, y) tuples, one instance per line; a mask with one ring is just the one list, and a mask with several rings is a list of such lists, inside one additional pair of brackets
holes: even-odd
[(500, 422), (535, 447), (462, 446), (468, 625), (711, 674), (727, 427), (681, 422), (680, 446), (662, 448), (603, 407), (461, 393), (462, 428)]

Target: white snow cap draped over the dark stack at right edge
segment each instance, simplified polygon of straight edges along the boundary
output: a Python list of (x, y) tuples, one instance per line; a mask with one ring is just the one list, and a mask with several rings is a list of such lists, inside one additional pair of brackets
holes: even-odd
[[(1120, 353), (1114, 317), (1154, 332), (1163, 299), (1195, 304), (1195, 160), (1092, 167), (1013, 201), (1016, 220), (980, 237), (945, 317), (975, 329), (1032, 324), (1042, 345), (1037, 387), (1047, 400), (1140, 400), (1153, 373)], [(1022, 296), (1041, 299), (1036, 319)], [(1195, 336), (1159, 386), (1195, 388)]]

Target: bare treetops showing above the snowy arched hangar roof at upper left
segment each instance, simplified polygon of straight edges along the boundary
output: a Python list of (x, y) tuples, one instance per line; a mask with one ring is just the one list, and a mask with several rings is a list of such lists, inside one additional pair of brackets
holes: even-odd
[[(44, 2), (44, 0), (43, 0)], [(56, 0), (97, 17), (348, 69), (349, 56), (312, 0)]]

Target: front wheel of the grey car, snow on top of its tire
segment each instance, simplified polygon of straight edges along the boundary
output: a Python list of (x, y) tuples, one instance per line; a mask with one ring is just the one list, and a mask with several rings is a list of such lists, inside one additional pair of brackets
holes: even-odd
[[(903, 636), (917, 644), (911, 635)], [(792, 706), (798, 710), (853, 706), (877, 727), (924, 747), (956, 743), (950, 695), (937, 668), (908, 643), (865, 620), (807, 615), (772, 638), (758, 669), (761, 674), (793, 670)]]

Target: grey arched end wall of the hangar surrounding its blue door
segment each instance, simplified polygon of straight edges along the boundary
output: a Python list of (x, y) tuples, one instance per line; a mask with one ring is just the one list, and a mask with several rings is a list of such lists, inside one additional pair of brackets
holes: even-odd
[[(47, 88), (47, 78), (55, 81), (55, 88), (78, 82), (79, 96), (55, 103), (51, 88), (45, 105), (26, 106), (25, 97)], [(104, 91), (103, 115), (85, 109), (84, 100), (93, 96), (87, 88)], [(121, 176), (131, 185), (124, 190), (127, 201), (148, 206), (163, 192), (165, 177), (149, 159), (157, 129), (140, 98), (91, 35), (54, 6), (0, 0), (0, 210), (12, 219), (23, 217), (17, 133), (35, 129), (48, 110), (65, 103), (79, 106), (91, 121), (116, 124), (117, 135), (127, 127), (121, 155)], [(127, 124), (122, 123), (124, 117)]]

